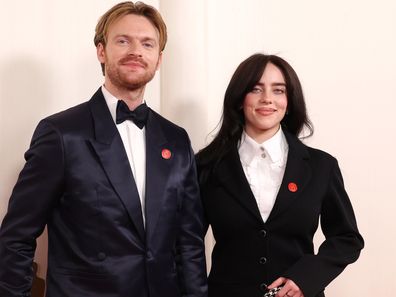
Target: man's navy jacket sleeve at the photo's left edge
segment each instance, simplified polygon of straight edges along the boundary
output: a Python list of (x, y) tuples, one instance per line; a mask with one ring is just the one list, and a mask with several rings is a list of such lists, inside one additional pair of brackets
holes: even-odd
[(59, 197), (63, 150), (46, 121), (36, 128), (0, 229), (0, 296), (30, 296), (36, 238)]

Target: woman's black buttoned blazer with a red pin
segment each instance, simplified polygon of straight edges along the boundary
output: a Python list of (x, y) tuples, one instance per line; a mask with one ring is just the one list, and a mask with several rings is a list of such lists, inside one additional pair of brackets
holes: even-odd
[[(201, 182), (207, 223), (216, 240), (210, 297), (261, 297), (266, 285), (280, 276), (292, 279), (305, 297), (324, 296), (325, 287), (359, 257), (364, 242), (337, 161), (287, 131), (285, 135), (286, 170), (266, 223), (236, 145)], [(297, 191), (289, 189), (290, 183)], [(326, 239), (315, 254), (319, 221)]]

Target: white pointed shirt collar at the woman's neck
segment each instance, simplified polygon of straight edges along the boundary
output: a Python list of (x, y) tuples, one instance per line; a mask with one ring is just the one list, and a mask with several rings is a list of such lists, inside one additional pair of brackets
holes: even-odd
[(250, 165), (253, 159), (256, 156), (263, 154), (263, 152), (270, 157), (272, 163), (283, 163), (286, 161), (288, 149), (289, 146), (287, 144), (286, 137), (282, 128), (279, 128), (278, 132), (276, 132), (274, 136), (263, 143), (257, 143), (245, 131), (243, 131), (238, 151), (241, 161), (246, 165)]

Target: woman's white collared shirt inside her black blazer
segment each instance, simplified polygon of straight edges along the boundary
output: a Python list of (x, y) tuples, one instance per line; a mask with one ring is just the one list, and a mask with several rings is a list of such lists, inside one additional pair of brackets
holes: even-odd
[(242, 133), (239, 157), (264, 222), (274, 207), (285, 173), (288, 151), (289, 145), (282, 128), (261, 144), (245, 131)]

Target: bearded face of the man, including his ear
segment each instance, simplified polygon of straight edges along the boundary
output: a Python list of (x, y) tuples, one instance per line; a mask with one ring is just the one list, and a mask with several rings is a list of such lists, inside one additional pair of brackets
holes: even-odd
[(105, 64), (106, 87), (142, 88), (161, 63), (158, 30), (144, 16), (125, 15), (109, 27), (106, 47), (98, 44), (97, 55)]

